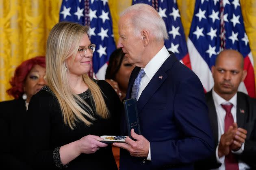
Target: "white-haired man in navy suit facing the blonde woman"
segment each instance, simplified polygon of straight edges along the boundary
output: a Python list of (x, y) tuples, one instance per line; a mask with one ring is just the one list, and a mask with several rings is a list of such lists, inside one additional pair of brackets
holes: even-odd
[[(119, 19), (119, 42), (130, 63), (126, 98), (136, 98), (141, 135), (126, 138), (120, 170), (193, 170), (193, 162), (211, 155), (213, 135), (204, 90), (193, 71), (164, 45), (165, 23), (147, 4), (128, 7)], [(127, 135), (123, 116), (123, 135)]]

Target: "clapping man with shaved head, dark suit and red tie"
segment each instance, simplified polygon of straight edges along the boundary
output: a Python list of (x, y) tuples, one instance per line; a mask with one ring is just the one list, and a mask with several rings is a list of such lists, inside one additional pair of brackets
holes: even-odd
[(243, 65), (241, 53), (229, 49), (219, 53), (211, 69), (215, 84), (206, 102), (215, 155), (197, 162), (196, 170), (256, 168), (256, 100), (237, 91), (247, 75)]

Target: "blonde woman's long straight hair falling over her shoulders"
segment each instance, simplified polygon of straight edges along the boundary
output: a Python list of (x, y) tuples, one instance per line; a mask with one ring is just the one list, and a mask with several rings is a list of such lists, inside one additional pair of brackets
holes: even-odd
[[(78, 23), (59, 22), (51, 30), (46, 44), (46, 76), (48, 86), (54, 92), (64, 123), (74, 129), (77, 121), (82, 121), (86, 125), (91, 125), (95, 118), (92, 114), (92, 108), (75, 94), (69, 86), (67, 79), (67, 68), (65, 60), (72, 57), (74, 61), (82, 37), (87, 34), (88, 27)], [(102, 96), (99, 86), (91, 80), (87, 74), (82, 75), (83, 81), (91, 91), (93, 105), (96, 114), (106, 119), (108, 118), (108, 109)], [(84, 104), (89, 108), (85, 109)]]

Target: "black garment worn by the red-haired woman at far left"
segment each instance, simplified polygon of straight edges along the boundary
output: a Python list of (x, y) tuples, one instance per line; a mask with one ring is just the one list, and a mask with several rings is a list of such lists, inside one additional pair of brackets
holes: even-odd
[(1, 166), (10, 170), (29, 170), (24, 161), (25, 102), (22, 99), (0, 102), (0, 110)]

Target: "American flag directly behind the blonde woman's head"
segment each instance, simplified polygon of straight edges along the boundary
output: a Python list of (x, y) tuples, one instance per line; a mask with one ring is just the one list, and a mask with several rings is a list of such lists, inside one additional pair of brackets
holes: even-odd
[(116, 49), (108, 0), (63, 0), (59, 21), (89, 26), (88, 35), (96, 45), (90, 76), (105, 79), (108, 59)]

